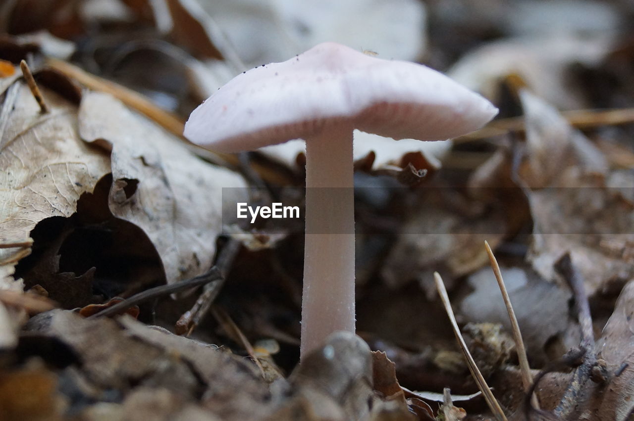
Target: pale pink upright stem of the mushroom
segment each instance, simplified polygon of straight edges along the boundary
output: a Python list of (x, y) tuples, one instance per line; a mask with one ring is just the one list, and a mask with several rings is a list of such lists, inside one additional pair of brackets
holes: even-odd
[(306, 139), (306, 245), (300, 358), (335, 330), (354, 332), (353, 125)]

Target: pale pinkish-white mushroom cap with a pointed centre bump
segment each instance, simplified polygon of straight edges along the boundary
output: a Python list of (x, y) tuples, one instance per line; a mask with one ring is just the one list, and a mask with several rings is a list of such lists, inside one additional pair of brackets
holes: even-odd
[(191, 113), (184, 135), (222, 152), (308, 139), (344, 122), (394, 139), (439, 140), (477, 130), (497, 112), (426, 66), (325, 42), (236, 76)]

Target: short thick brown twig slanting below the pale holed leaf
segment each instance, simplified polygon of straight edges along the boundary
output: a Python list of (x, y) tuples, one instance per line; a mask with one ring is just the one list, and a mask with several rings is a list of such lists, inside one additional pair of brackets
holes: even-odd
[(183, 313), (178, 319), (178, 322), (176, 322), (176, 334), (186, 334), (190, 336), (191, 332), (202, 322), (203, 318), (209, 312), (212, 303), (214, 303), (214, 299), (216, 299), (223, 287), (224, 279), (239, 250), (240, 242), (238, 240), (230, 239), (227, 244), (225, 244), (223, 250), (218, 255), (215, 266), (222, 274), (222, 278), (217, 280), (217, 282), (205, 285), (196, 303), (194, 303), (190, 310)]

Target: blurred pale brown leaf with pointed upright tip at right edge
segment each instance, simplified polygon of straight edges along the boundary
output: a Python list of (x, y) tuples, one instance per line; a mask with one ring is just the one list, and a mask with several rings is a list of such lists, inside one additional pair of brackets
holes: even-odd
[[(604, 154), (541, 99), (521, 92), (526, 114), (527, 158), (519, 175), (528, 187), (533, 217), (529, 260), (548, 280), (567, 250), (590, 296), (634, 275), (634, 207), (618, 188), (607, 188)], [(631, 178), (627, 180), (631, 182)]]

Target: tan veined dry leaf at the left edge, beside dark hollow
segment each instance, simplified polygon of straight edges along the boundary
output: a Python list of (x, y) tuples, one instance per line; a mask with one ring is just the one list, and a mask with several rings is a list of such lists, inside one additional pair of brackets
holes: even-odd
[[(11, 95), (11, 91), (15, 95)], [(70, 217), (84, 192), (91, 192), (110, 172), (107, 154), (88, 146), (77, 135), (77, 108), (42, 89), (50, 112), (41, 114), (29, 89), (15, 82), (4, 100), (0, 137), (0, 242), (29, 239), (38, 222), (49, 217)], [(11, 275), (23, 250), (0, 250), (4, 275)]]

